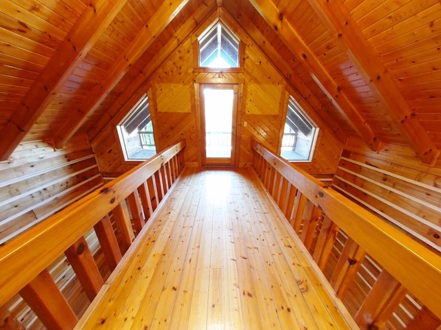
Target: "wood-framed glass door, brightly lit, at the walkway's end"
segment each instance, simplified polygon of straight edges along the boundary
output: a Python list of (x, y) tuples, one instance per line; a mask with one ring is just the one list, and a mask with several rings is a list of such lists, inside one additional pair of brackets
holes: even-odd
[(201, 85), (203, 165), (234, 165), (238, 85)]

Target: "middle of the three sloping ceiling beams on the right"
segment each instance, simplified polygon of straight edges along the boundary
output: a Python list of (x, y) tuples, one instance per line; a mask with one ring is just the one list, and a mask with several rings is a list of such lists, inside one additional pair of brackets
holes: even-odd
[(292, 25), (283, 17), (272, 1), (250, 0), (254, 8), (262, 15), (267, 23), (274, 28), (280, 39), (289, 50), (296, 55), (298, 61), (303, 63), (312, 78), (318, 83), (322, 91), (331, 99), (336, 108), (349, 118), (353, 129), (362, 137), (372, 151), (378, 151), (380, 141), (374, 135), (371, 126), (362, 118), (353, 104), (348, 100), (344, 91), (337, 85), (321, 65), (318, 58), (307, 47)]

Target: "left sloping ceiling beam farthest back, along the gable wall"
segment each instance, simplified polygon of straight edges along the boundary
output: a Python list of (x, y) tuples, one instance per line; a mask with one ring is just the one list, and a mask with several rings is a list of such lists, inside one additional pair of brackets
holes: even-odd
[[(207, 5), (207, 3), (209, 5)], [(113, 102), (112, 106), (107, 109), (105, 115), (101, 117), (98, 124), (88, 132), (92, 144), (97, 144), (107, 137), (115, 126), (121, 122), (124, 115), (133, 104), (139, 100), (141, 95), (147, 91), (146, 83), (150, 76), (156, 72), (167, 58), (169, 58), (185, 41), (192, 37), (195, 30), (199, 27), (201, 22), (214, 21), (217, 17), (216, 5), (214, 1), (204, 1), (193, 12), (192, 16), (185, 21), (183, 25), (176, 31), (172, 38), (161, 48), (157, 56), (152, 58), (152, 61), (142, 69), (142, 71), (132, 80), (130, 85), (127, 85), (124, 92)], [(127, 110), (127, 111), (125, 111)]]

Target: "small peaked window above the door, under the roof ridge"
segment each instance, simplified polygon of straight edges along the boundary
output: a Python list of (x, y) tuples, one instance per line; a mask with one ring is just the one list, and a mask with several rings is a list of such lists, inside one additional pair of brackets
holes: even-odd
[(239, 41), (222, 24), (202, 34), (199, 40), (199, 66), (239, 67)]

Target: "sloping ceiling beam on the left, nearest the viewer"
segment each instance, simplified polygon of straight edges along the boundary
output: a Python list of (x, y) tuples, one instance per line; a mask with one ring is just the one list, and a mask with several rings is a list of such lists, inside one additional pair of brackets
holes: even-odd
[(85, 8), (57, 52), (0, 131), (0, 160), (6, 160), (30, 131), (75, 67), (99, 39), (127, 0), (94, 0)]

